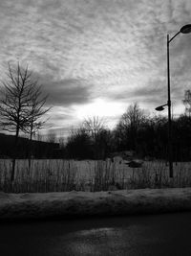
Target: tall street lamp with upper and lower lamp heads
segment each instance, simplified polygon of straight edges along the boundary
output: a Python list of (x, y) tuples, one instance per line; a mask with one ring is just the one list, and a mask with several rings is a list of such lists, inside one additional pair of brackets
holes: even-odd
[[(191, 24), (187, 24), (180, 28), (180, 31), (172, 36), (171, 38), (167, 35), (167, 92), (168, 92), (168, 160), (169, 160), (169, 175), (173, 177), (173, 157), (172, 157), (172, 122), (171, 122), (171, 96), (170, 96), (170, 56), (169, 56), (169, 45), (170, 42), (179, 34), (191, 33)], [(156, 110), (162, 111), (164, 105), (159, 105)]]

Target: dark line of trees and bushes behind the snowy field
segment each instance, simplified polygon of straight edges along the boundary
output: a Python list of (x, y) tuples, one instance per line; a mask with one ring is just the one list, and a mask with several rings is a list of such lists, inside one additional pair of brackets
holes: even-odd
[[(185, 91), (185, 113), (172, 120), (173, 160), (191, 160), (191, 91)], [(168, 120), (161, 115), (150, 116), (138, 104), (130, 105), (120, 117), (116, 128), (104, 126), (93, 117), (71, 132), (65, 155), (78, 159), (105, 159), (111, 152), (135, 151), (148, 159), (167, 159)]]

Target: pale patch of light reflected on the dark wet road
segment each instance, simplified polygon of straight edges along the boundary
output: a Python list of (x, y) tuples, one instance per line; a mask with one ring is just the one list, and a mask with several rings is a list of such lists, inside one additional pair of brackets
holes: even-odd
[[(144, 238), (143, 232), (138, 226), (129, 228), (93, 228), (70, 233), (64, 237), (65, 251), (73, 255), (121, 255), (124, 251), (128, 253), (137, 252), (138, 239), (141, 244), (151, 243)], [(135, 246), (136, 245), (136, 246)]]

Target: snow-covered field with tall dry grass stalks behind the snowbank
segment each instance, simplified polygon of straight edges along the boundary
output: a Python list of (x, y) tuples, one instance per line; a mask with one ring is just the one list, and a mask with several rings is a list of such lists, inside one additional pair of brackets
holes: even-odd
[(174, 164), (174, 178), (169, 178), (165, 162), (144, 162), (130, 168), (125, 162), (74, 161), (64, 159), (16, 160), (11, 183), (11, 159), (0, 160), (0, 191), (13, 193), (61, 191), (109, 191), (139, 188), (191, 186), (191, 163)]

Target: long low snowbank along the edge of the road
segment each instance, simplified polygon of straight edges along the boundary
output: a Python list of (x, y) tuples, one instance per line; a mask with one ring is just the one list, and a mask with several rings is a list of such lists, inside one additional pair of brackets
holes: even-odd
[(109, 192), (6, 194), (0, 192), (0, 221), (191, 210), (191, 188)]

